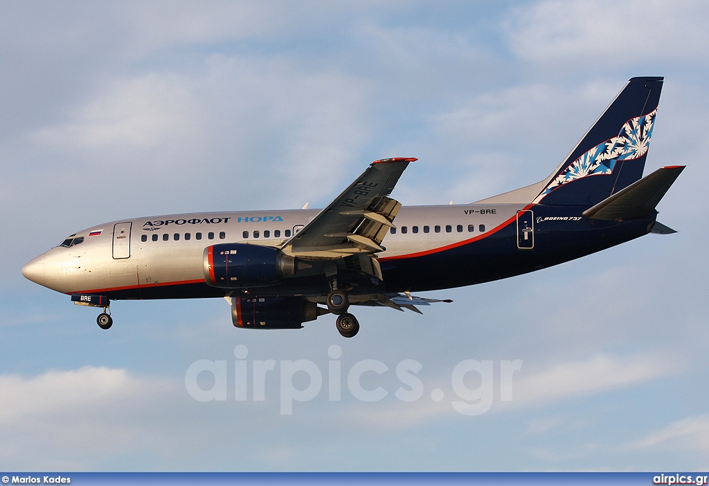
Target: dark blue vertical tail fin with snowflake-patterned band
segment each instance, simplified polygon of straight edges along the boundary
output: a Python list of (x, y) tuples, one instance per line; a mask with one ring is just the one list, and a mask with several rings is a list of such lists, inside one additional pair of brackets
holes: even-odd
[(591, 207), (640, 180), (663, 79), (630, 79), (535, 202)]

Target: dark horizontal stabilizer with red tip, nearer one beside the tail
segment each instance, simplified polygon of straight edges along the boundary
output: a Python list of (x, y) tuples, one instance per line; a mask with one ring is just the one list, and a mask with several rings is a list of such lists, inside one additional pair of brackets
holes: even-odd
[(584, 216), (608, 221), (642, 218), (654, 212), (684, 166), (663, 167), (586, 209)]

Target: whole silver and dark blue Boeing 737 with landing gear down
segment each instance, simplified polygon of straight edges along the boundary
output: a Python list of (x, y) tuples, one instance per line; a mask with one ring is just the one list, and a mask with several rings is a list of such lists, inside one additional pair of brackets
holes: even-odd
[[(99, 224), (28, 262), (23, 275), (103, 308), (110, 302), (220, 297), (233, 325), (296, 329), (352, 306), (420, 313), (450, 300), (412, 292), (491, 282), (558, 265), (647, 233), (685, 166), (642, 177), (664, 78), (628, 81), (544, 180), (471, 204), (402, 207), (394, 186), (415, 158), (369, 165), (321, 210), (209, 212)], [(396, 221), (396, 224), (394, 224)]]

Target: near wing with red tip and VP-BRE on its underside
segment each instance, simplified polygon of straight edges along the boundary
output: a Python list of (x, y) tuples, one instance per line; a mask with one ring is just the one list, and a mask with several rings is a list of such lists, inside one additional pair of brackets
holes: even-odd
[(343, 258), (384, 251), (381, 241), (401, 204), (389, 199), (404, 169), (415, 158), (384, 158), (372, 162), (328, 207), (281, 250), (300, 258)]

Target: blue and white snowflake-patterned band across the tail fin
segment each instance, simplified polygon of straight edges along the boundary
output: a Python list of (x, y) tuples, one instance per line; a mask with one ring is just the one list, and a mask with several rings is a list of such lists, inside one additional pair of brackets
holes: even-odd
[(577, 158), (549, 183), (541, 196), (544, 197), (572, 180), (585, 178), (588, 175), (610, 174), (618, 161), (629, 161), (644, 156), (652, 137), (655, 115), (657, 109), (625, 122), (618, 137), (596, 145)]

